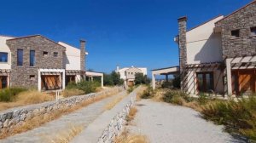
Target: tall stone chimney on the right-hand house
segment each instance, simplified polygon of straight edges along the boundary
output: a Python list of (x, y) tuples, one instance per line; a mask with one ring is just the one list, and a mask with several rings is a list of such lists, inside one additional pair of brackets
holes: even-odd
[(181, 17), (178, 21), (178, 48), (179, 48), (179, 68), (181, 76), (181, 89), (186, 91), (186, 71), (184, 67), (187, 65), (187, 17)]

